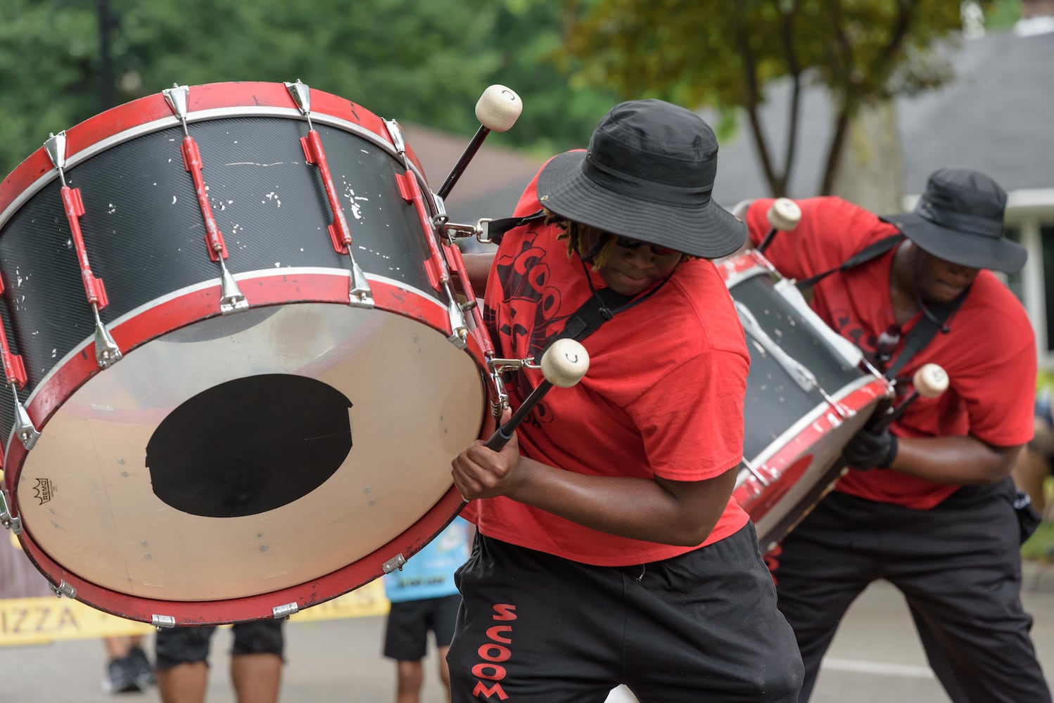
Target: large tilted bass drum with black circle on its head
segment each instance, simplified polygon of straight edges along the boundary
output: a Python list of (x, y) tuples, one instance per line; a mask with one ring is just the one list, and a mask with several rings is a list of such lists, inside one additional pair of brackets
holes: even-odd
[(397, 124), (299, 83), (165, 93), (0, 184), (7, 517), (100, 610), (284, 617), (460, 511), (492, 347)]

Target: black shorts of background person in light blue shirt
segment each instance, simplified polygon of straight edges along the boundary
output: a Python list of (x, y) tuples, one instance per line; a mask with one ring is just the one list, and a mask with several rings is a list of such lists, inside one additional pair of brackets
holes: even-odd
[(436, 647), (450, 645), (461, 596), (422, 598), (392, 603), (385, 626), (385, 657), (401, 662), (416, 662), (428, 650), (428, 631)]

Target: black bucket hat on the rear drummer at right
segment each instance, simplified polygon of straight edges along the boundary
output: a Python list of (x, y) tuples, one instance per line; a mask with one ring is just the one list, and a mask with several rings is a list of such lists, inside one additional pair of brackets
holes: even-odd
[(915, 212), (881, 219), (938, 259), (1016, 274), (1029, 253), (1002, 236), (1006, 208), (1007, 192), (984, 174), (940, 168), (926, 181)]

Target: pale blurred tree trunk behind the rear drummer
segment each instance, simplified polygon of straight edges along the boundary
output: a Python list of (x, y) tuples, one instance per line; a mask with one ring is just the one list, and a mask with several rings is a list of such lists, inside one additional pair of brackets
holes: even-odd
[(903, 163), (894, 103), (862, 105), (850, 120), (832, 195), (878, 215), (899, 213)]

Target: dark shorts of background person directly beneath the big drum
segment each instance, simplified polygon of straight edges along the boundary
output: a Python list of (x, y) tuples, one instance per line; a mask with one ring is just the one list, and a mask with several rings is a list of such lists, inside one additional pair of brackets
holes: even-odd
[[(281, 657), (285, 649), (281, 630), (284, 622), (285, 620), (257, 620), (232, 625), (231, 656), (267, 654)], [(208, 663), (215, 631), (215, 625), (157, 630), (154, 637), (156, 668), (163, 671), (179, 664)]]

